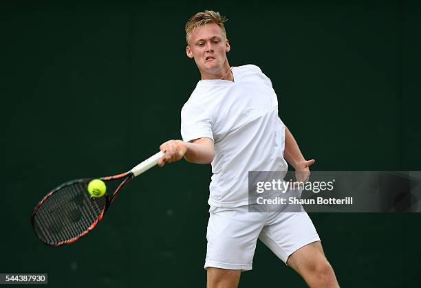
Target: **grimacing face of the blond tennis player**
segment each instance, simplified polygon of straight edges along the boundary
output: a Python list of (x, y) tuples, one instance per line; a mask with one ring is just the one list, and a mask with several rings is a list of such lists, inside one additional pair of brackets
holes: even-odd
[(194, 58), (201, 74), (218, 74), (226, 62), (226, 52), (230, 51), (228, 40), (215, 23), (197, 27), (190, 34), (186, 53)]

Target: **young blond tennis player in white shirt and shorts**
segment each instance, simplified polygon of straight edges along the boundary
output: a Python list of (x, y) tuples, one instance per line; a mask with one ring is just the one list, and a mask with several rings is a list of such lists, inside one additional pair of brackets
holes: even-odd
[[(186, 23), (186, 53), (202, 80), (181, 112), (182, 140), (160, 146), (158, 165), (212, 163), (208, 287), (237, 287), (252, 269), (257, 239), (295, 269), (310, 287), (338, 287), (319, 235), (307, 213), (248, 212), (248, 171), (309, 171), (294, 137), (278, 117), (270, 79), (255, 65), (230, 67), (224, 17), (199, 12)], [(286, 160), (286, 161), (285, 161)]]

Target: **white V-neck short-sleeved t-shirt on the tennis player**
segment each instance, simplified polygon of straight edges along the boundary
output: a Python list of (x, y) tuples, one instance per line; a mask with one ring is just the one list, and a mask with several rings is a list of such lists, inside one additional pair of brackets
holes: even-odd
[(200, 80), (181, 113), (184, 142), (215, 144), (208, 203), (223, 208), (248, 204), (249, 171), (288, 170), (272, 82), (255, 65), (233, 67), (233, 75), (235, 82)]

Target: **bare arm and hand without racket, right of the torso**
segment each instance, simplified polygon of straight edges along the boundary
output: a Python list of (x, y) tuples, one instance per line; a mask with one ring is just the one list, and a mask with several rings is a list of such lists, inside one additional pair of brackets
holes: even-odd
[(310, 177), (309, 166), (313, 165), (316, 160), (306, 160), (304, 158), (294, 136), (292, 136), (287, 126), (285, 126), (285, 149), (283, 151), (283, 157), (294, 167), (297, 181), (305, 182), (308, 180), (308, 177)]

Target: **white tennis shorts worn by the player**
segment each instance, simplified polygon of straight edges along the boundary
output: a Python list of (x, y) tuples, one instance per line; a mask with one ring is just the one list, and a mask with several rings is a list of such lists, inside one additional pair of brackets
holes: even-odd
[(204, 268), (252, 269), (257, 239), (286, 263), (299, 248), (320, 241), (306, 212), (248, 212), (210, 207)]

